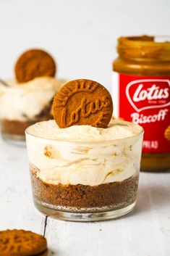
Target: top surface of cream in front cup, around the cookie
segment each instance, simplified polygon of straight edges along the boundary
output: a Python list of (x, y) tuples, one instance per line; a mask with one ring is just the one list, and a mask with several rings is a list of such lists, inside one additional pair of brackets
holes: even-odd
[(142, 128), (129, 122), (111, 120), (108, 128), (96, 128), (90, 125), (72, 125), (59, 128), (54, 120), (31, 125), (27, 133), (43, 139), (61, 141), (113, 141), (132, 137), (140, 133)]

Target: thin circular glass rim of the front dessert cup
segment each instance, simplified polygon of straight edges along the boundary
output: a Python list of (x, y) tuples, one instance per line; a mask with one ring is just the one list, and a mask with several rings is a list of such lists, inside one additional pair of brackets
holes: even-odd
[[(128, 121), (124, 121), (124, 120), (116, 120), (117, 123), (121, 124), (121, 123), (124, 123), (124, 124), (127, 124), (127, 123), (132, 123), (132, 122), (128, 122)], [(133, 125), (137, 125), (135, 123), (132, 123)], [(32, 125), (30, 125), (32, 126)], [(35, 134), (32, 134), (30, 133), (28, 130), (29, 130), (29, 127), (27, 127), (25, 129), (25, 135), (27, 136), (32, 136), (34, 137), (35, 139), (41, 139), (43, 141), (51, 141), (51, 142), (57, 142), (57, 143), (62, 143), (62, 144), (79, 144), (79, 145), (89, 145), (89, 144), (113, 144), (114, 142), (116, 141), (122, 141), (124, 139), (131, 139), (131, 138), (135, 138), (137, 136), (140, 136), (141, 134), (144, 133), (144, 130), (143, 130), (143, 127), (138, 125), (140, 127), (140, 131), (137, 133), (137, 134), (134, 134), (132, 136), (127, 136), (127, 137), (124, 137), (124, 138), (120, 138), (120, 139), (112, 139), (112, 140), (103, 140), (103, 141), (76, 141), (76, 140), (68, 140), (68, 139), (49, 139), (49, 138), (44, 138), (42, 136), (37, 136)]]

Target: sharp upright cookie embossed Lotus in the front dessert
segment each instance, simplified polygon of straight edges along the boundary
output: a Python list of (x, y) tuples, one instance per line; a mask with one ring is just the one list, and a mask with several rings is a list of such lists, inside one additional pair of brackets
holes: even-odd
[(72, 80), (56, 94), (53, 115), (60, 128), (92, 125), (106, 128), (113, 103), (109, 91), (93, 80)]

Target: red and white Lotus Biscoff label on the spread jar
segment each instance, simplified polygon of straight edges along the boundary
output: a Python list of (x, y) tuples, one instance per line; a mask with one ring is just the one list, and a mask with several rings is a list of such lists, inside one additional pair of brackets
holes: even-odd
[(114, 73), (114, 115), (144, 128), (143, 152), (170, 152), (170, 77)]

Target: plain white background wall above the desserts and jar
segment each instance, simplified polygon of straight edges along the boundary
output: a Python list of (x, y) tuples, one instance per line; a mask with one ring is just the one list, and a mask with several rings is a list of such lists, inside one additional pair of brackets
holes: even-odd
[(14, 76), (25, 49), (51, 52), (59, 78), (111, 86), (122, 35), (170, 33), (170, 0), (0, 0), (0, 77)]

